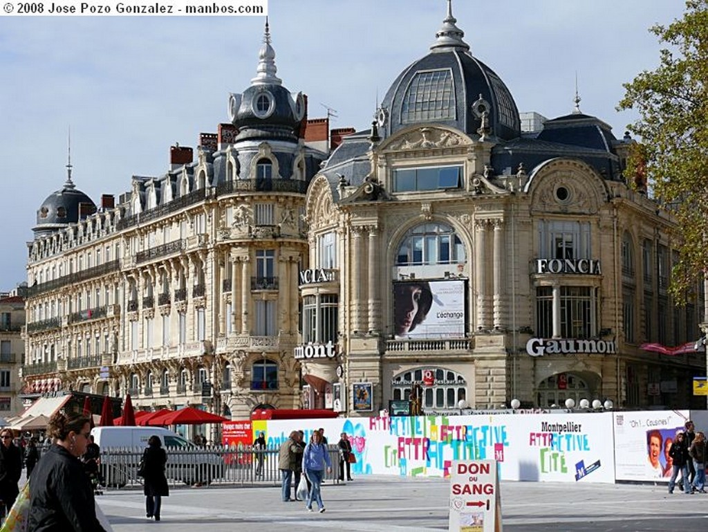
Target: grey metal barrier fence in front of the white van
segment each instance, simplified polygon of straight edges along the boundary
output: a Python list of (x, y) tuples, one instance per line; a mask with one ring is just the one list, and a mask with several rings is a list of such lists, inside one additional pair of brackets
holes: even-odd
[[(101, 475), (107, 488), (139, 488), (137, 468), (145, 448), (101, 449)], [(184, 485), (280, 485), (279, 448), (256, 451), (251, 448), (207, 446), (168, 447), (165, 476), (172, 487)], [(331, 473), (325, 480), (337, 483), (339, 450), (329, 446)], [(261, 467), (259, 468), (259, 465)]]

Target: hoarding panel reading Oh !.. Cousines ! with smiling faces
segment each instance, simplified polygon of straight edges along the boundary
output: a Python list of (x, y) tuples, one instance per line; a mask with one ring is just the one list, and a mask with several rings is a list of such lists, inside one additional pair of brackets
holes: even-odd
[(668, 482), (672, 465), (668, 451), (687, 419), (687, 410), (615, 412), (617, 480)]

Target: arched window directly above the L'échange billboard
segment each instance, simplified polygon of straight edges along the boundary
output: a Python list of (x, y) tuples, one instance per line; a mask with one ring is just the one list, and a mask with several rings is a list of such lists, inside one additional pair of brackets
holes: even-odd
[(413, 227), (396, 254), (397, 266), (463, 264), (467, 261), (462, 240), (450, 225), (426, 223)]

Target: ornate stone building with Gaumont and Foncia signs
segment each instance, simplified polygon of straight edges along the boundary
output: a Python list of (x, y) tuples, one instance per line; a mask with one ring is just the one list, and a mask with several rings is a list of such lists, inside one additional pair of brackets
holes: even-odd
[(641, 349), (692, 346), (704, 294), (677, 307), (667, 293), (673, 225), (622, 174), (633, 141), (577, 97), (523, 131), (456, 23), (448, 3), (428, 55), (309, 186), (306, 402), (702, 406), (704, 353)]

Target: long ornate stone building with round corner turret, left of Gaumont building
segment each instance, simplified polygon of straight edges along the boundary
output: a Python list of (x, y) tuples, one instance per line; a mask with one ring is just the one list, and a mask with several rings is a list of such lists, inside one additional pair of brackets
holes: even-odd
[(140, 408), (195, 404), (243, 419), (299, 407), (297, 272), (307, 185), (306, 101), (276, 76), (268, 25), (229, 123), (171, 149), (162, 176), (118, 202), (64, 187), (29, 244), (25, 394), (80, 390)]

